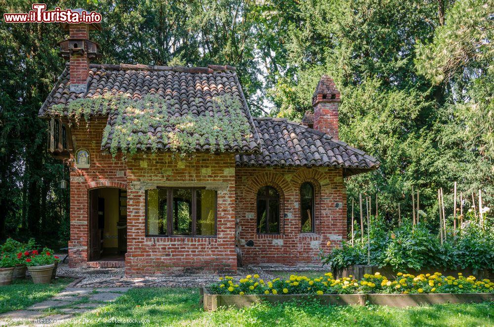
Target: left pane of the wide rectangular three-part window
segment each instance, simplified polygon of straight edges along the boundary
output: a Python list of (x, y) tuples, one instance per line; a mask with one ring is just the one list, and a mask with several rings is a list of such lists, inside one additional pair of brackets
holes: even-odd
[(166, 235), (166, 190), (148, 190), (147, 235)]

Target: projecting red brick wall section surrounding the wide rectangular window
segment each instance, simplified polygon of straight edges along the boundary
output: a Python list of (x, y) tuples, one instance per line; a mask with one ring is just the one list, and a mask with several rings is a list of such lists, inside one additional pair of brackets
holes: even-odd
[[(235, 253), (235, 159), (233, 155), (169, 153), (138, 155), (128, 162), (125, 273), (232, 273)], [(206, 186), (217, 190), (217, 237), (146, 237), (145, 190), (156, 186)]]

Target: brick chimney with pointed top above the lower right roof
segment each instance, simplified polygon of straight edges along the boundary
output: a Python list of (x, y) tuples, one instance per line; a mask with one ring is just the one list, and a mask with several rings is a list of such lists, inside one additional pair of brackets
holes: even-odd
[(314, 129), (338, 139), (338, 103), (340, 93), (333, 80), (323, 75), (312, 96), (314, 108)]

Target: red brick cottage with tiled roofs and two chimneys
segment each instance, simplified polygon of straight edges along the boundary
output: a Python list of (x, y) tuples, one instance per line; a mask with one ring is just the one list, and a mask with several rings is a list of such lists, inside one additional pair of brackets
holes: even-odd
[[(338, 140), (340, 94), (328, 76), (302, 123), (253, 118), (234, 67), (89, 64), (98, 57), (89, 31), (99, 24), (65, 28), (70, 37), (60, 48), (69, 63), (39, 116), (48, 122), (48, 151), (71, 170), (71, 267), (232, 273), (248, 264), (316, 263), (320, 250), (346, 238), (344, 178), (379, 162)], [(115, 109), (122, 97), (109, 95), (161, 99), (142, 113), (170, 122), (222, 115), (233, 128), (241, 119), (248, 135), (199, 137), (179, 155), (170, 136), (178, 124), (143, 127), (144, 114)], [(238, 110), (218, 109), (214, 99), (225, 95)]]

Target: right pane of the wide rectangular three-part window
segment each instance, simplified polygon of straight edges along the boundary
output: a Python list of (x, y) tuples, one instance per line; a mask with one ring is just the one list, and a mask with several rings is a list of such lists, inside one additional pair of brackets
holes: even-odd
[(216, 191), (196, 190), (196, 234), (215, 235)]

